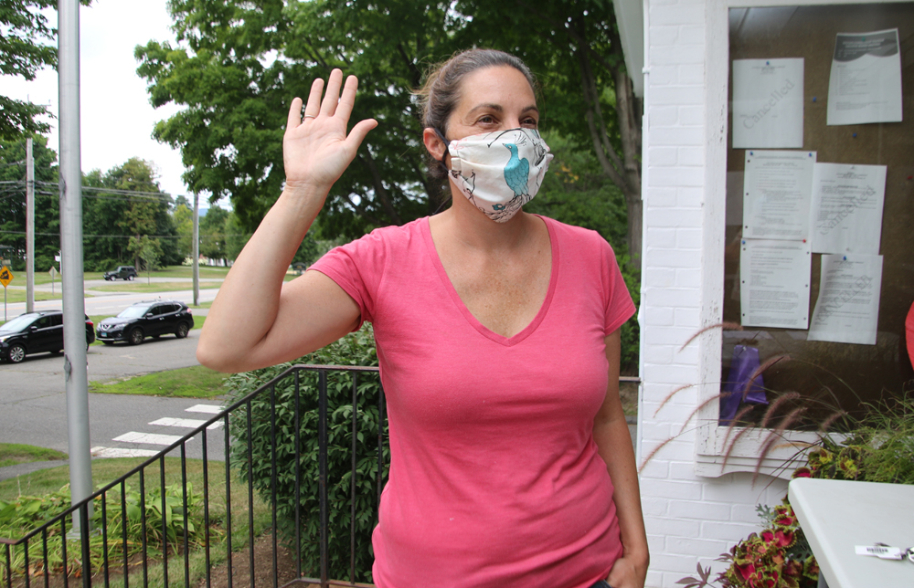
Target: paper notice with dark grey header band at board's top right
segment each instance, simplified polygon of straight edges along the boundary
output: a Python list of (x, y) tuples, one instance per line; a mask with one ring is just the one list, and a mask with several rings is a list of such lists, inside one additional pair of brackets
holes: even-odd
[(827, 124), (900, 121), (898, 29), (839, 33), (828, 79)]

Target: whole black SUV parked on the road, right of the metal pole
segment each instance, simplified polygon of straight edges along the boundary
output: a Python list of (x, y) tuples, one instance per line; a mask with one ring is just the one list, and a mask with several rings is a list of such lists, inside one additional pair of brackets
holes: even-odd
[(183, 339), (193, 326), (194, 317), (184, 302), (145, 300), (128, 306), (116, 317), (101, 320), (95, 332), (106, 345), (114, 341), (139, 345), (146, 337), (174, 334)]

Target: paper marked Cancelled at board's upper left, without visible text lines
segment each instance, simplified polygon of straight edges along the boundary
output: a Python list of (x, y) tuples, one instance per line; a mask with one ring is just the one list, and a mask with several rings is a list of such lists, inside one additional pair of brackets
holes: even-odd
[(802, 148), (803, 60), (733, 60), (734, 149)]

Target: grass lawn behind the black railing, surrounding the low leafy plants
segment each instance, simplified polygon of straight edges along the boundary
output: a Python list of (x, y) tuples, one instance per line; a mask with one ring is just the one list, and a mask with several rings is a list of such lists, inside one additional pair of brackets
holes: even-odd
[[(142, 457), (125, 457), (115, 459), (93, 459), (92, 460), (92, 481), (96, 488), (106, 485), (113, 480), (120, 478), (134, 467), (141, 465), (145, 461)], [(187, 481), (192, 485), (193, 491), (202, 497), (203, 494), (203, 461), (200, 459), (186, 460)], [(144, 470), (144, 478), (147, 492), (153, 486), (159, 485), (159, 462), (156, 461)], [(218, 461), (207, 463), (207, 478), (209, 481), (209, 521), (210, 528), (214, 530), (211, 535), (211, 565), (217, 566), (226, 560), (226, 473), (225, 464)], [(181, 481), (181, 460), (177, 457), (165, 458), (165, 484), (171, 485)], [(44, 496), (46, 494), (57, 492), (60, 488), (69, 484), (69, 467), (51, 467), (37, 472), (20, 476), (18, 478), (8, 479), (0, 482), (0, 500), (13, 500), (18, 496)], [(127, 480), (127, 485), (133, 490), (140, 488), (138, 475), (134, 475)], [(190, 488), (190, 486), (188, 486)], [(253, 531), (258, 536), (271, 522), (271, 509), (257, 493), (254, 499), (249, 503), (248, 493), (245, 491), (247, 485), (243, 483), (237, 475), (231, 476), (231, 537), (233, 551), (240, 551), (246, 547), (249, 538), (249, 509), (253, 513)], [(115, 488), (107, 494), (109, 504), (115, 500), (120, 500), (120, 491)], [(200, 499), (200, 517), (202, 519), (202, 499)], [(198, 523), (202, 524), (202, 523)], [(77, 550), (79, 543), (68, 542), (68, 551)], [(150, 586), (165, 585), (163, 568), (160, 562), (156, 560), (161, 558), (161, 553), (150, 551), (149, 553), (148, 577)], [(190, 585), (199, 585), (206, 578), (206, 552), (202, 548), (195, 548), (189, 552), (189, 572)], [(118, 588), (123, 586), (122, 567), (120, 562), (113, 562), (111, 569), (111, 586)], [(168, 585), (184, 587), (184, 554), (171, 555), (168, 565)], [(139, 565), (131, 566), (130, 585), (139, 585), (142, 582), (143, 572)], [(5, 578), (4, 578), (5, 579)], [(21, 575), (13, 576), (14, 585), (24, 585)], [(71, 577), (70, 585), (81, 585), (81, 578)], [(92, 578), (93, 585), (102, 585), (100, 577)], [(31, 585), (43, 585), (41, 578), (32, 578)], [(62, 585), (59, 577), (55, 577), (51, 585)], [(106, 584), (107, 585), (107, 584)]]

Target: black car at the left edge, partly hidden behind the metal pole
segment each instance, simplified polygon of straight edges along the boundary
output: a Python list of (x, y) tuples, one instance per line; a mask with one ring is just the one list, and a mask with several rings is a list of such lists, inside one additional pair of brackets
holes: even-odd
[[(92, 341), (95, 341), (95, 325), (86, 316), (87, 349)], [(27, 312), (0, 325), (0, 360), (18, 363), (32, 353), (57, 353), (62, 349), (63, 312), (60, 310)]]

